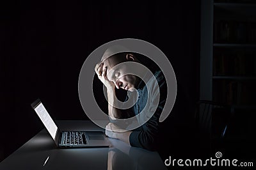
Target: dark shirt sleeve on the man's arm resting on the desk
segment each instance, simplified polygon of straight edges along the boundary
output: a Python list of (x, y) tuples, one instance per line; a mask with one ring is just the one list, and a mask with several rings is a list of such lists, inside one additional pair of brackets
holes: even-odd
[[(166, 102), (167, 86), (162, 72), (155, 75), (159, 86), (160, 93), (159, 104), (153, 116), (140, 128), (140, 130), (132, 131), (129, 141), (131, 146), (145, 148), (147, 150), (156, 150), (157, 139), (159, 135), (160, 123), (159, 117), (163, 111)], [(154, 96), (154, 94), (152, 94)]]

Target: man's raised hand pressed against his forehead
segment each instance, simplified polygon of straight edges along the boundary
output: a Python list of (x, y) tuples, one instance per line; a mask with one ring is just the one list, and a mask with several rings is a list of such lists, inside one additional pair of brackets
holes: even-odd
[(104, 86), (106, 86), (107, 89), (115, 89), (115, 84), (108, 80), (108, 77), (107, 77), (108, 68), (104, 66), (104, 63), (102, 62), (97, 63), (94, 70), (97, 73), (100, 81), (104, 84)]

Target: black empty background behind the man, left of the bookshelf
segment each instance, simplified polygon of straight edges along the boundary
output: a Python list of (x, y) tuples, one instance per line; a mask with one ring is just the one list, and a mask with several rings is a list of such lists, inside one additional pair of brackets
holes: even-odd
[(22, 1), (1, 5), (0, 24), (0, 161), (44, 128), (30, 106), (36, 98), (54, 120), (88, 120), (79, 72), (86, 57), (111, 40), (138, 38), (161, 49), (187, 95), (184, 106), (194, 112), (200, 1)]

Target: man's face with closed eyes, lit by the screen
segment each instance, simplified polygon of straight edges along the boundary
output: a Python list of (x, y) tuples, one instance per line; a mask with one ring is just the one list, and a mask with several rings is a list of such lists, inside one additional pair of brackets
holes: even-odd
[[(118, 65), (119, 63), (120, 61), (115, 59), (115, 57), (110, 57), (104, 61), (103, 66), (107, 67), (107, 78), (115, 84), (117, 89), (122, 88), (133, 91), (138, 82), (138, 77), (136, 77), (136, 75), (127, 74), (131, 68), (125, 66), (124, 63)], [(114, 66), (115, 69), (112, 69)]]

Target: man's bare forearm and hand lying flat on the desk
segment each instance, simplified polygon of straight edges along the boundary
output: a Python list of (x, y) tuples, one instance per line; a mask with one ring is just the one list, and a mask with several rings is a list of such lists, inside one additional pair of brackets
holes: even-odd
[(119, 139), (130, 145), (129, 137), (131, 131), (124, 130), (116, 126), (115, 123), (108, 123), (105, 133), (108, 137)]

